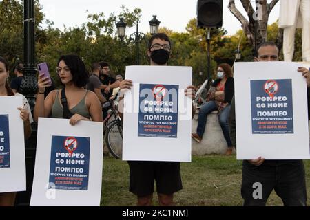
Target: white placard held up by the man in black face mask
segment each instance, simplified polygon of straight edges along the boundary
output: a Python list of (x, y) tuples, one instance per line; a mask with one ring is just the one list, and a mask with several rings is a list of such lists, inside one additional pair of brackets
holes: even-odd
[(124, 98), (123, 160), (190, 162), (192, 99), (184, 90), (192, 67), (130, 66), (125, 78), (134, 86)]

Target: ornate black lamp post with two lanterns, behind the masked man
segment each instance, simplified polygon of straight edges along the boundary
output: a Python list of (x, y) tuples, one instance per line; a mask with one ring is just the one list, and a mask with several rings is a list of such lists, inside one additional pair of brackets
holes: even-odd
[[(161, 21), (158, 21), (156, 19), (156, 15), (153, 15), (153, 19), (149, 21), (149, 26), (150, 26), (150, 31), (151, 34), (156, 34), (158, 32), (158, 26)], [(116, 23), (116, 28), (117, 28), (117, 35), (118, 37), (123, 40), (125, 37), (125, 29), (126, 29), (126, 23), (123, 21), (123, 18), (120, 18), (120, 21)], [(136, 65), (140, 65), (140, 49), (139, 49), (139, 43), (145, 39), (145, 34), (142, 32), (139, 32), (138, 30), (138, 21), (136, 22), (136, 32), (130, 34), (128, 43), (130, 41), (134, 41), (136, 45)]]

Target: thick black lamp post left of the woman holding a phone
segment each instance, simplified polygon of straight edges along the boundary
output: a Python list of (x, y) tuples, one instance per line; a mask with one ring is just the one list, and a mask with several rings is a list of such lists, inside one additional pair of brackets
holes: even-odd
[[(35, 94), (37, 93), (37, 69), (34, 65), (34, 0), (24, 1), (24, 67), (23, 80), (21, 82), (21, 92), (28, 99), (31, 110), (35, 104)], [(15, 204), (17, 206), (29, 206), (32, 190), (32, 179), (34, 174), (34, 158), (37, 146), (37, 124), (32, 123), (32, 135), (25, 142), (26, 160), (26, 191), (17, 192)]]

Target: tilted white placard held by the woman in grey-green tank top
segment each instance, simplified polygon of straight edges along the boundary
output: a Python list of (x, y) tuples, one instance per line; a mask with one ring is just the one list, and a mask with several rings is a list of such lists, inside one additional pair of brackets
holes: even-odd
[(39, 118), (30, 206), (99, 206), (102, 168), (102, 122)]

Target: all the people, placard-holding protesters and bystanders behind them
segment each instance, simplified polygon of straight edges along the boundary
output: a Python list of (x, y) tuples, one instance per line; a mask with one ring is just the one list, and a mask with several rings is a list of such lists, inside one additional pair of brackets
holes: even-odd
[[(167, 65), (172, 52), (172, 45), (166, 34), (154, 34), (149, 39), (147, 56), (150, 65)], [(271, 42), (258, 46), (255, 61), (278, 61), (278, 47)], [(0, 58), (0, 96), (22, 96), (19, 94), (19, 78), (22, 78), (21, 66), (17, 65), (17, 79), (12, 80), (12, 90), (8, 85), (8, 62)], [(74, 126), (80, 120), (102, 122), (107, 113), (102, 113), (102, 104), (119, 94), (123, 100), (124, 89), (132, 88), (132, 80), (121, 75), (110, 76), (108, 63), (92, 64), (92, 72), (88, 74), (85, 64), (79, 56), (63, 55), (57, 62), (56, 72), (63, 85), (62, 89), (54, 89), (45, 97), (45, 92), (51, 85), (51, 78), (38, 76), (37, 101), (34, 107), (34, 120), (39, 117), (68, 118)], [(310, 86), (309, 69), (300, 67), (296, 74), (302, 74)], [(147, 74), (147, 73), (146, 73)], [(195, 97), (195, 87), (189, 85), (185, 96)], [(119, 93), (118, 93), (119, 92)], [(32, 116), (27, 100), (23, 97), (24, 107), (20, 108), (24, 121), (25, 138), (30, 136)], [(120, 102), (119, 109), (123, 109)], [(308, 101), (309, 103), (309, 101)], [(200, 107), (198, 127), (192, 133), (195, 141), (200, 142), (205, 132), (207, 115), (218, 111), (220, 126), (227, 142), (227, 155), (236, 148), (236, 122), (234, 120), (234, 78), (231, 67), (227, 63), (218, 65), (217, 79), (207, 92), (205, 104)], [(123, 112), (123, 111), (120, 111)], [(123, 114), (120, 113), (121, 118)], [(136, 195), (138, 206), (152, 205), (154, 182), (161, 206), (174, 205), (174, 193), (183, 188), (180, 162), (145, 162), (128, 161), (130, 167), (130, 192)], [(274, 177), (278, 179), (275, 179)], [(262, 199), (253, 199), (252, 184), (263, 182)], [(302, 161), (268, 161), (262, 157), (244, 161), (242, 166), (241, 194), (245, 206), (264, 206), (271, 191), (276, 190), (285, 206), (305, 206), (307, 188), (305, 183), (304, 165)], [(12, 205), (14, 193), (1, 193), (0, 205)]]

